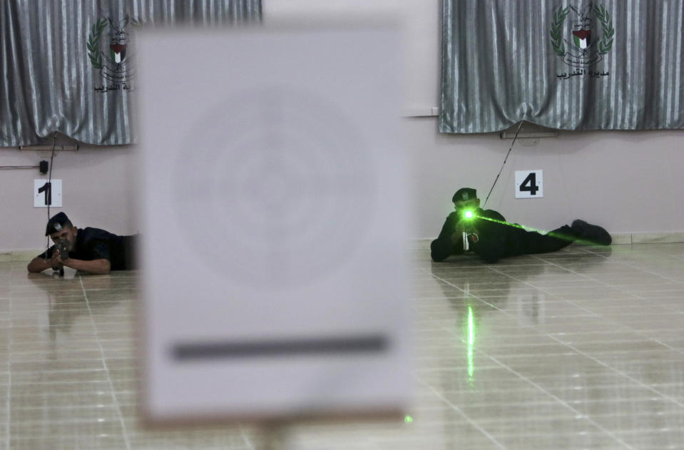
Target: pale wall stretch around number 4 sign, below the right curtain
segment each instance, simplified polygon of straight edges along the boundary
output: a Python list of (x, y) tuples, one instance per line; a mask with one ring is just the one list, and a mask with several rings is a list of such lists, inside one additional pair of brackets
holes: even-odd
[[(438, 134), (436, 122), (407, 120), (417, 237), (439, 233), (457, 188), (476, 188), (484, 203), (511, 145), (497, 134)], [(507, 220), (542, 230), (583, 218), (612, 233), (684, 231), (684, 132), (561, 131), (527, 143), (515, 144), (486, 205)], [(543, 198), (515, 198), (514, 171), (528, 169), (543, 170)]]

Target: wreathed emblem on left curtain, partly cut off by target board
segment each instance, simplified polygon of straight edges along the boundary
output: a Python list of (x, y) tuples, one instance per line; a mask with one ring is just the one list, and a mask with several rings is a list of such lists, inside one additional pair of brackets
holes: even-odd
[[(133, 19), (133, 26), (139, 21)], [(132, 91), (133, 63), (128, 53), (128, 16), (120, 22), (111, 17), (97, 19), (88, 34), (88, 58), (93, 68), (99, 69), (101, 86), (96, 86), (96, 92)], [(128, 56), (128, 57), (127, 57)]]

